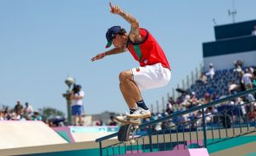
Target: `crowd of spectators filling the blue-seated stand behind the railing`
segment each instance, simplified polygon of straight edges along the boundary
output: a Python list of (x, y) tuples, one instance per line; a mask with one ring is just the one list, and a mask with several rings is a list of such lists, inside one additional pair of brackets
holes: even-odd
[[(209, 102), (219, 100), (221, 98), (226, 97), (227, 95), (237, 94), (245, 90), (249, 90), (252, 88), (256, 88), (256, 68), (255, 67), (243, 67), (243, 63), (239, 61), (234, 62), (234, 68), (230, 69), (229, 72), (235, 76), (235, 79), (227, 79), (226, 75), (220, 75), (219, 79), (215, 79), (215, 71), (213, 68), (213, 63), (209, 65), (209, 71), (203, 72), (200, 75), (198, 85), (207, 86), (208, 88), (205, 90), (198, 90), (195, 92), (191, 88), (187, 90), (176, 89), (181, 93), (176, 101), (170, 97), (166, 110), (161, 113), (152, 113), (151, 119), (145, 119), (143, 122), (148, 122), (150, 120), (157, 120), (163, 117), (166, 117), (170, 114), (175, 114), (187, 110), (192, 107), (197, 107), (201, 105), (205, 105)], [(222, 72), (222, 71), (219, 71)], [(224, 89), (224, 92), (216, 93), (216, 88), (214, 85), (218, 81), (222, 81), (221, 77), (225, 77), (224, 79), (228, 81), (228, 83), (221, 86)], [(211, 80), (211, 85), (209, 85), (208, 81)], [(182, 91), (182, 92), (181, 92)], [(201, 96), (200, 92), (204, 92), (203, 96)], [(255, 102), (255, 94), (248, 94), (244, 97), (235, 98), (232, 101), (226, 101), (219, 105), (215, 105), (212, 107), (207, 107), (204, 109), (206, 115), (206, 123), (208, 126), (213, 124), (219, 124), (217, 119), (217, 114), (219, 115), (219, 120), (222, 122), (223, 127), (231, 127), (231, 123), (249, 123), (250, 121), (255, 120), (256, 115), (256, 102)], [(174, 119), (170, 119), (161, 123), (154, 125), (154, 130), (161, 130), (165, 127), (174, 127), (179, 128), (180, 126), (184, 126), (181, 123), (189, 122), (189, 127), (200, 127), (202, 125), (202, 111), (195, 111), (191, 114), (184, 114), (182, 116), (178, 116)], [(185, 124), (186, 127), (188, 125)]]

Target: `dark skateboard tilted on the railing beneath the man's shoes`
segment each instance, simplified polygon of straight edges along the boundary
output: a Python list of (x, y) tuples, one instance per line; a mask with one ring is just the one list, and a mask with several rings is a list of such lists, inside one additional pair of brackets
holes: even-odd
[(133, 125), (133, 124), (122, 124), (119, 131), (118, 131), (118, 140), (119, 141), (128, 141), (131, 144), (135, 143), (135, 133), (136, 130), (139, 128), (139, 126), (137, 125)]

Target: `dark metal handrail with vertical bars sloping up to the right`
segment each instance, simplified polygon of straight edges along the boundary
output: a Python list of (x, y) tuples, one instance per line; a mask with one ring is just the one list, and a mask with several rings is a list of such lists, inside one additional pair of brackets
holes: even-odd
[[(99, 142), (101, 156), (207, 147), (223, 140), (256, 132), (256, 117), (253, 112), (255, 100), (246, 101), (249, 94), (255, 93), (256, 88), (253, 88), (159, 120), (149, 121), (139, 127), (140, 132), (135, 137), (135, 144), (109, 140), (116, 137), (117, 133), (95, 141)], [(237, 98), (243, 98), (246, 102), (238, 105), (228, 104)], [(209, 107), (222, 107), (222, 110), (209, 113)], [(189, 114), (197, 115), (194, 119), (181, 120), (184, 115)], [(179, 118), (180, 120), (174, 123), (174, 120)], [(160, 124), (162, 128), (155, 130), (154, 127), (159, 127)]]

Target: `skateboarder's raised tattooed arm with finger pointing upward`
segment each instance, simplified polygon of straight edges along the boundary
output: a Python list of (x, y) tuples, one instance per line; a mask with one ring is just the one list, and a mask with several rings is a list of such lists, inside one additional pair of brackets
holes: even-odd
[(129, 32), (129, 38), (132, 42), (141, 42), (143, 41), (143, 38), (140, 34), (140, 26), (138, 21), (135, 19), (134, 16), (131, 16), (127, 13), (125, 13), (121, 8), (117, 5), (112, 5), (109, 3), (110, 6), (110, 12), (112, 14), (117, 14), (122, 16), (128, 23), (131, 24), (131, 30)]

